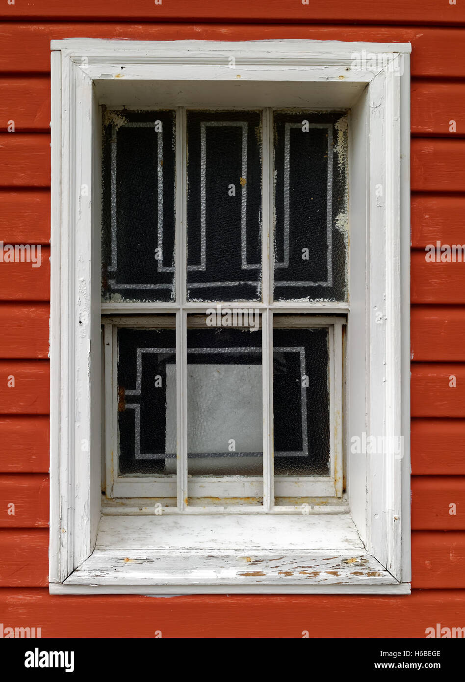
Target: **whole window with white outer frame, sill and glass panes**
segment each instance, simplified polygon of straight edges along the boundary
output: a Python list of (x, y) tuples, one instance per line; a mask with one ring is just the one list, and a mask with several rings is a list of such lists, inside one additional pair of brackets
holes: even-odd
[(408, 592), (409, 48), (364, 48), (52, 42), (52, 592)]

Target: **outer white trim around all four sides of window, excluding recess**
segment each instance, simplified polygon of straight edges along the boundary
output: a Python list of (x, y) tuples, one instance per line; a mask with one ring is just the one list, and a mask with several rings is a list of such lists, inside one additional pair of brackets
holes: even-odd
[[(234, 57), (241, 82), (298, 80), (325, 87), (358, 83), (365, 91), (359, 107), (357, 126), (365, 133), (363, 148), (357, 151), (365, 172), (359, 186), (366, 186), (365, 202), (357, 203), (353, 219), (368, 225), (368, 248), (383, 253), (383, 267), (371, 267), (367, 289), (368, 315), (359, 317), (370, 333), (368, 376), (370, 404), (366, 410), (374, 432), (389, 437), (408, 433), (409, 374), (409, 44), (366, 44), (343, 42), (267, 41), (215, 43), (201, 41), (132, 42), (93, 39), (52, 41), (52, 295), (50, 318), (50, 591), (123, 591), (159, 593), (156, 585), (137, 587), (131, 575), (123, 576), (123, 589), (113, 589), (102, 579), (95, 589), (73, 581), (70, 576), (80, 564), (91, 559), (100, 520), (100, 458), (91, 458), (100, 441), (100, 406), (91, 396), (91, 377), (100, 376), (100, 353), (91, 352), (91, 333), (100, 329), (100, 257), (91, 261), (96, 246), (91, 225), (100, 222), (100, 196), (95, 177), (100, 177), (95, 153), (100, 131), (91, 125), (98, 112), (94, 97), (98, 83), (124, 79), (166, 80), (185, 78), (233, 81), (234, 70), (218, 69)], [(379, 70), (354, 66), (354, 53), (388, 55)], [(403, 72), (390, 68), (402, 56)], [(293, 68), (290, 68), (293, 67)], [(121, 70), (125, 71), (121, 78)], [(236, 69), (237, 70), (237, 69)], [(331, 108), (331, 104), (325, 108)], [(362, 111), (363, 109), (363, 111)], [(370, 144), (368, 149), (368, 136)], [(92, 143), (89, 144), (89, 138)], [(375, 148), (376, 147), (376, 148)], [(378, 157), (378, 158), (377, 158)], [(365, 164), (365, 165), (363, 165)], [(367, 173), (368, 170), (368, 173)], [(384, 187), (384, 200), (376, 198), (376, 179)], [(91, 196), (81, 193), (83, 185), (93, 187)], [(356, 183), (357, 184), (357, 183)], [(361, 187), (351, 184), (353, 194)], [(367, 213), (370, 215), (368, 220)], [(363, 222), (361, 222), (363, 224)], [(100, 231), (99, 231), (100, 239)], [(95, 241), (95, 245), (93, 244)], [(401, 248), (402, 245), (402, 248)], [(100, 256), (100, 254), (98, 254)], [(352, 267), (361, 265), (354, 261)], [(92, 297), (97, 282), (98, 301)], [(95, 284), (93, 285), (95, 288)], [(350, 286), (350, 284), (349, 284)], [(401, 295), (402, 292), (402, 295)], [(289, 310), (292, 308), (292, 310)], [(297, 306), (286, 306), (293, 312)], [(115, 312), (115, 311), (113, 311)], [(325, 308), (329, 313), (329, 308)], [(340, 312), (340, 311), (337, 311)], [(401, 333), (402, 329), (402, 333)], [(100, 338), (100, 331), (98, 332)], [(95, 346), (95, 342), (93, 343)], [(100, 345), (100, 344), (99, 344)], [(350, 366), (350, 351), (349, 351)], [(385, 364), (384, 364), (385, 362)], [(354, 371), (361, 370), (355, 367)], [(349, 379), (350, 381), (350, 379)], [(95, 381), (93, 382), (95, 386)], [(381, 395), (374, 395), (377, 388)], [(61, 396), (64, 396), (60, 404)], [(376, 403), (376, 405), (374, 404)], [(59, 408), (58, 408), (59, 406)], [(99, 448), (100, 449), (100, 448)], [(392, 582), (380, 587), (376, 581), (340, 576), (342, 585), (306, 584), (292, 589), (248, 584), (237, 591), (323, 591), (408, 593), (409, 548), (409, 462), (408, 444), (401, 462), (366, 462), (362, 473), (370, 479), (371, 495), (365, 531), (361, 531), (367, 552), (385, 567)], [(376, 469), (377, 481), (373, 477)], [(348, 472), (350, 477), (351, 472)], [(401, 484), (402, 479), (402, 484)], [(359, 491), (365, 488), (359, 477)], [(78, 491), (78, 495), (75, 495)], [(357, 494), (357, 485), (354, 486)], [(389, 510), (389, 514), (383, 510)], [(400, 520), (402, 509), (402, 535)], [(375, 514), (380, 511), (380, 514)], [(362, 528), (363, 512), (354, 511)], [(388, 516), (389, 518), (386, 518)], [(378, 521), (374, 521), (378, 519)], [(357, 526), (358, 527), (358, 526)], [(311, 541), (310, 541), (311, 542)], [(96, 555), (94, 555), (95, 557)], [(108, 556), (108, 552), (107, 552)], [(93, 565), (95, 569), (95, 562)], [(212, 588), (213, 590), (213, 588)], [(177, 591), (182, 591), (177, 589)], [(188, 592), (209, 589), (188, 587)], [(213, 590), (214, 591), (214, 590)], [(218, 591), (218, 590), (217, 590)], [(232, 592), (228, 584), (222, 591)]]

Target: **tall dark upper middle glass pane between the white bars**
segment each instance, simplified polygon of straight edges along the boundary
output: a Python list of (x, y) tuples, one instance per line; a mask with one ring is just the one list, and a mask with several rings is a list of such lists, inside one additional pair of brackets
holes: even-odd
[(256, 111), (188, 111), (188, 299), (258, 301), (262, 132)]

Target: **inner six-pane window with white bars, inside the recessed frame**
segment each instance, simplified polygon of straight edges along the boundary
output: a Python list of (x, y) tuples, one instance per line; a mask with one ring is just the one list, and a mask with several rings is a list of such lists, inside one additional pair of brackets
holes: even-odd
[(103, 110), (106, 499), (342, 496), (346, 315), (320, 303), (348, 299), (347, 119)]

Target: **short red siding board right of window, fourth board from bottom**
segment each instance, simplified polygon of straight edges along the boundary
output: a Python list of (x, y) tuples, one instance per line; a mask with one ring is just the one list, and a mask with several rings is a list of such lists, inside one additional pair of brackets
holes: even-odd
[(412, 419), (413, 475), (465, 475), (465, 419)]

